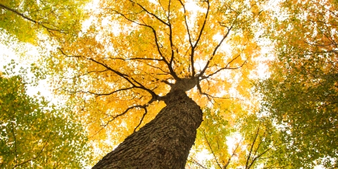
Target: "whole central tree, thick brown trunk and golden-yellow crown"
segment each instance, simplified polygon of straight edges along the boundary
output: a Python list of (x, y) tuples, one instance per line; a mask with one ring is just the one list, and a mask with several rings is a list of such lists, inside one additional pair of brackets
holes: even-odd
[[(202, 120), (199, 107), (228, 98), (220, 91), (232, 83), (245, 84), (228, 78), (246, 77), (245, 63), (258, 55), (253, 32), (262, 4), (99, 2), (87, 20), (92, 25), (50, 59), (51, 70), (68, 79), (63, 92), (82, 103), (92, 139), (119, 142), (133, 133), (94, 168), (184, 168)], [(121, 125), (123, 134), (112, 132)]]

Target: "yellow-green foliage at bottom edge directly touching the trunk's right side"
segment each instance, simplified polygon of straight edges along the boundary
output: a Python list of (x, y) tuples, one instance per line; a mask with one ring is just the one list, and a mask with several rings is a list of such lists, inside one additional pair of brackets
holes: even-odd
[[(228, 114), (224, 111), (213, 112), (210, 108), (204, 108), (203, 112), (204, 121), (197, 130), (196, 142), (186, 168), (222, 168), (231, 157), (227, 137), (230, 137), (234, 129), (229, 124), (230, 119), (225, 118)], [(201, 154), (211, 154), (211, 160), (199, 159)]]

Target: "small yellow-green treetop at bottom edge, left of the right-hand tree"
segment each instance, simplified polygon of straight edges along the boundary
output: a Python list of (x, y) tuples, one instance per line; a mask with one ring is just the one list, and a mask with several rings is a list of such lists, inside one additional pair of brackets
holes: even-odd
[(286, 146), (280, 131), (268, 117), (257, 117), (260, 113), (247, 115), (240, 123), (242, 147), (239, 163), (243, 168), (293, 168), (285, 155)]

